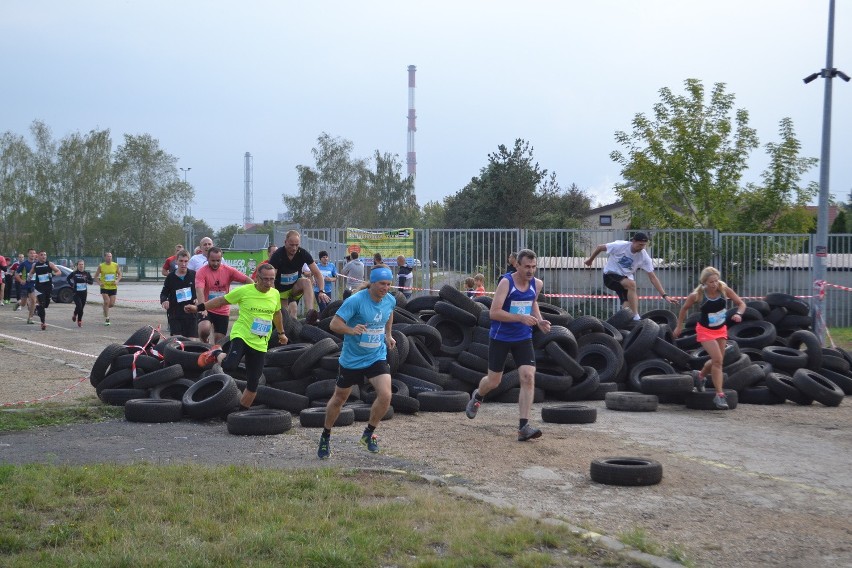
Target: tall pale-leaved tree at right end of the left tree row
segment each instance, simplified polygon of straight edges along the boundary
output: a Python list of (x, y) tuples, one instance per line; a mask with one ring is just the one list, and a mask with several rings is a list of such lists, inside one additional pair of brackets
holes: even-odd
[[(118, 249), (128, 256), (155, 256), (161, 249), (158, 227), (164, 222), (176, 223), (191, 202), (194, 192), (184, 184), (177, 172), (177, 158), (160, 148), (149, 134), (124, 135), (113, 164), (116, 191), (112, 207), (119, 213), (103, 220), (117, 237)], [(212, 229), (209, 234), (212, 234)]]

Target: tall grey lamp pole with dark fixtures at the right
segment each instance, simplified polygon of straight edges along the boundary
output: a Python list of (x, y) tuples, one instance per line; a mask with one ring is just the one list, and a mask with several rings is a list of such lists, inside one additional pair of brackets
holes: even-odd
[(818, 77), (825, 79), (825, 97), (822, 107), (822, 152), (819, 159), (819, 211), (817, 214), (817, 240), (814, 246), (814, 289), (816, 302), (813, 310), (814, 333), (825, 345), (825, 260), (828, 256), (828, 172), (831, 159), (831, 80), (840, 77), (849, 82), (849, 76), (833, 66), (834, 62), (834, 0), (828, 3), (828, 47), (825, 68), (804, 78), (805, 84)]

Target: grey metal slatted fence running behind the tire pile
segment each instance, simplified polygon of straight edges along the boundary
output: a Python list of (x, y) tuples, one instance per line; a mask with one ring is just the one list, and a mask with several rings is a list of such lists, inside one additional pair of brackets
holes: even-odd
[[(379, 229), (389, 230), (389, 229)], [(302, 229), (302, 246), (316, 255), (326, 250), (338, 268), (343, 266), (346, 229)], [(705, 266), (717, 267), (731, 288), (745, 298), (784, 292), (810, 300), (814, 290), (814, 235), (740, 234), (712, 230), (648, 231), (648, 252), (655, 272), (672, 296), (686, 296), (697, 285)], [(465, 278), (481, 273), (493, 291), (506, 269), (509, 253), (529, 248), (539, 257), (537, 276), (544, 281), (544, 299), (574, 315), (609, 317), (619, 308), (603, 286), (606, 255), (592, 267), (583, 261), (594, 247), (627, 240), (623, 230), (417, 229), (414, 257), (415, 295), (434, 294), (445, 284), (464, 287)], [(278, 243), (279, 245), (282, 243)], [(825, 317), (829, 327), (852, 326), (852, 234), (831, 235), (827, 257)], [(92, 259), (100, 262), (100, 259)], [(371, 259), (365, 259), (371, 260)], [(393, 265), (393, 259), (388, 259)], [(94, 268), (97, 262), (87, 266)], [(162, 278), (162, 259), (127, 259), (129, 278)], [(658, 297), (647, 277), (637, 284), (642, 312), (677, 310)], [(338, 286), (338, 293), (342, 286)]]

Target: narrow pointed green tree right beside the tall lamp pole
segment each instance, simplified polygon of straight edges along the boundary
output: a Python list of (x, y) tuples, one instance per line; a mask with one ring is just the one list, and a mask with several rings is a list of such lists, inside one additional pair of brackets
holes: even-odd
[(749, 184), (738, 196), (733, 231), (806, 233), (812, 228), (813, 218), (806, 206), (819, 193), (819, 185), (802, 186), (801, 180), (818, 160), (799, 155), (801, 144), (792, 119), (781, 119), (778, 133), (781, 141), (766, 145), (769, 165), (763, 182)]

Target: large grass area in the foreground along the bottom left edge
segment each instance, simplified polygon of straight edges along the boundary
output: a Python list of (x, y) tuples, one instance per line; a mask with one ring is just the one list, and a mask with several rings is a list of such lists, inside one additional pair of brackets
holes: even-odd
[(17, 566), (639, 566), (405, 476), (243, 466), (0, 466)]

